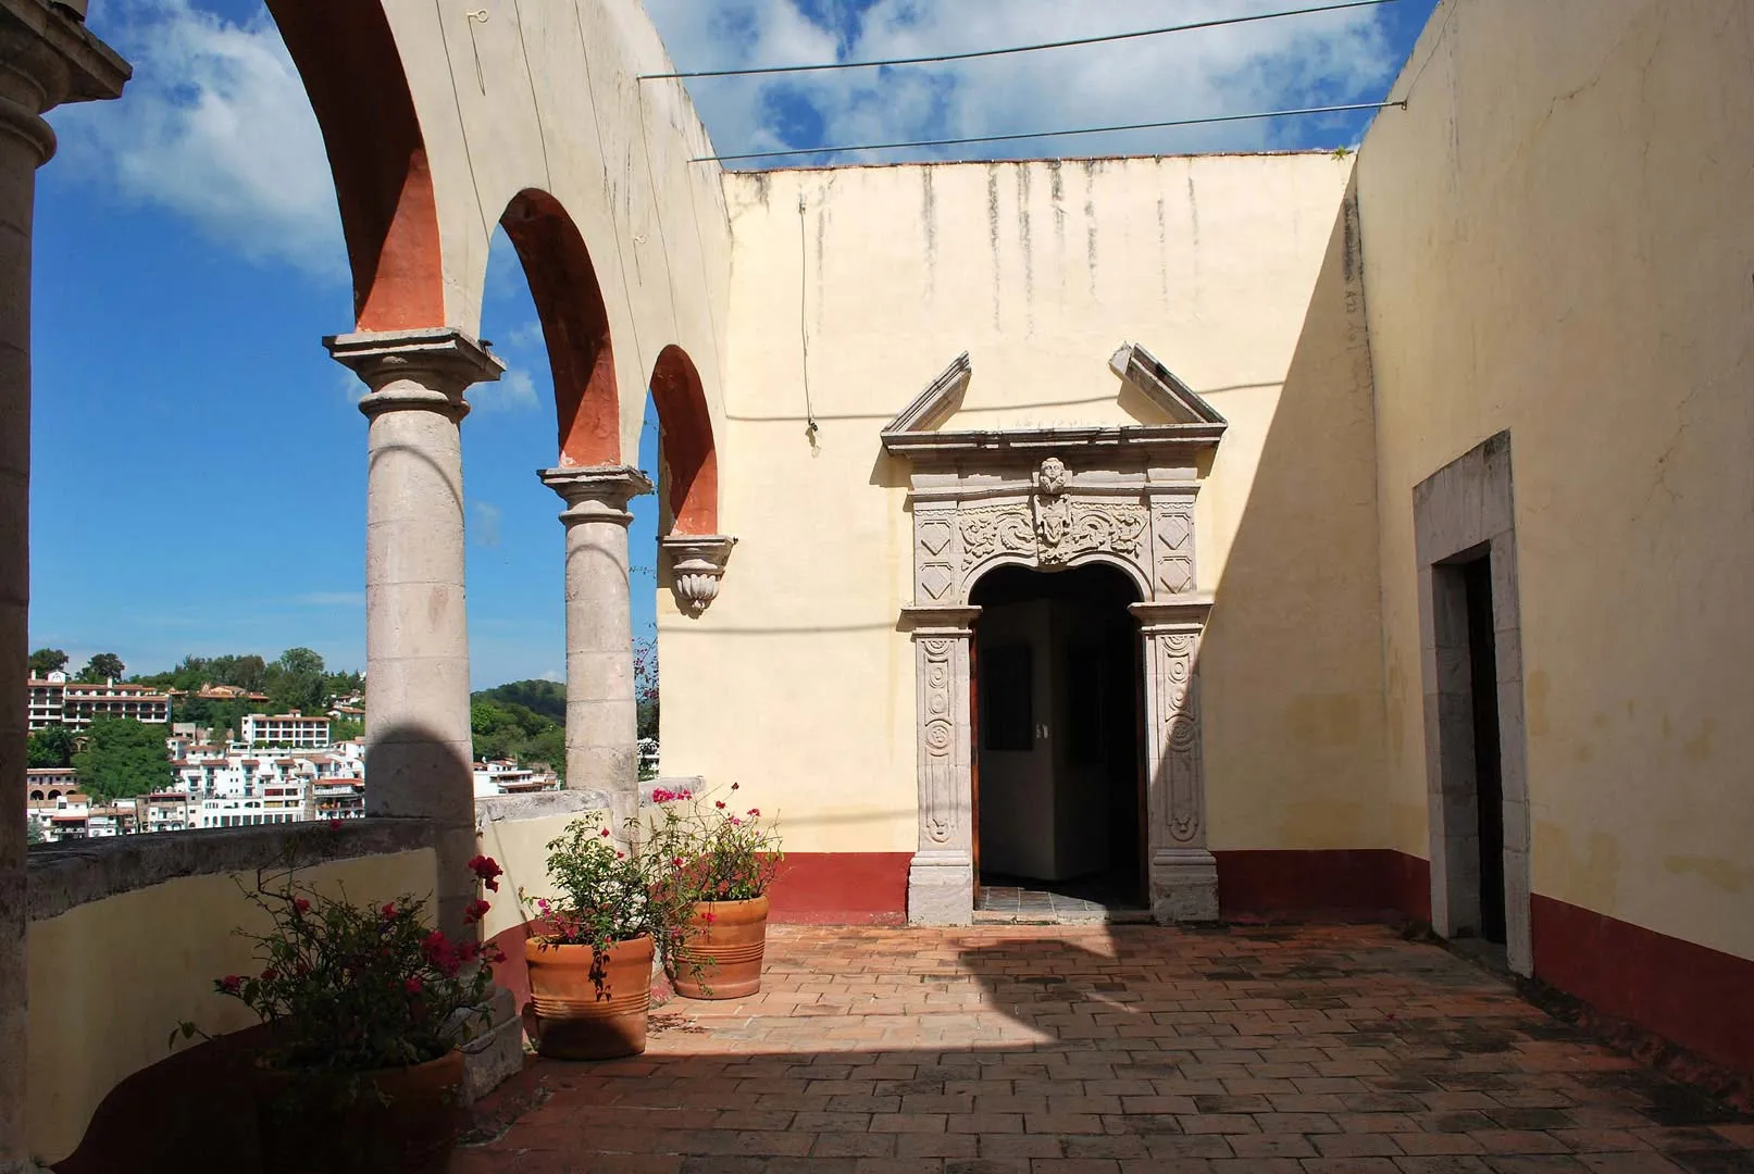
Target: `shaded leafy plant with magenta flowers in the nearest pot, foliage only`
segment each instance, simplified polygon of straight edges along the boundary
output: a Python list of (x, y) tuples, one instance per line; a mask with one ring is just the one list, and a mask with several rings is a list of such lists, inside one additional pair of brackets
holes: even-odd
[[(468, 864), (488, 888), (500, 866), (488, 857)], [(491, 1022), (484, 1006), (503, 960), (474, 939), (453, 941), (433, 929), (426, 899), (402, 895), (360, 906), (300, 885), (296, 869), (256, 873), (244, 897), (265, 911), (272, 929), (240, 936), (254, 943), (256, 974), (226, 974), (214, 990), (239, 999), (272, 1027), (263, 1055), (268, 1067), (300, 1072), (370, 1072), (437, 1060), (474, 1034), (472, 1020)], [(468, 906), (470, 923), (488, 913)], [(203, 1036), (193, 1023), (172, 1032)]]

